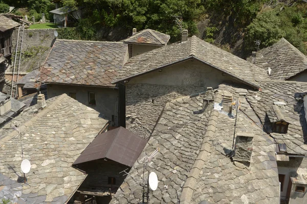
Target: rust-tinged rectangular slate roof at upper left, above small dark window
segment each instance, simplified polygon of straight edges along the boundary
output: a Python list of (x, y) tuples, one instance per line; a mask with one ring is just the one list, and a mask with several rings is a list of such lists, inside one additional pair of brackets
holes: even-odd
[(128, 59), (127, 44), (56, 40), (38, 80), (77, 85), (112, 86)]

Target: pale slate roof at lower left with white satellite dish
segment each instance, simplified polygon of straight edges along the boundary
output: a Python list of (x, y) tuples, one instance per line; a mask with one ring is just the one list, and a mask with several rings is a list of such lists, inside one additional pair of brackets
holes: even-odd
[(12, 121), (23, 138), (24, 159), (31, 162), (26, 184), (20, 137), (12, 129), (0, 130), (0, 184), (9, 177), (14, 183), (4, 185), (21, 185), (19, 197), (29, 204), (68, 201), (86, 177), (72, 164), (107, 122), (66, 94), (46, 102), (43, 110), (32, 106)]

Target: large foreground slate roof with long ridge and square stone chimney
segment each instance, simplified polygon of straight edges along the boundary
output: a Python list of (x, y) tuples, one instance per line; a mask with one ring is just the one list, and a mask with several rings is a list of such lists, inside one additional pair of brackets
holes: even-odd
[[(221, 103), (222, 94), (215, 96), (214, 103)], [(245, 98), (242, 102), (242, 110), (253, 112)], [(234, 165), (225, 149), (231, 148), (235, 120), (212, 109), (213, 103), (207, 104), (202, 96), (178, 98), (165, 106), (144, 148), (147, 154), (160, 148), (145, 171), (145, 177), (147, 171), (155, 171), (159, 181), (158, 189), (149, 192), (150, 202), (279, 203), (273, 140), (239, 111), (237, 132), (255, 135), (254, 150), (250, 167)], [(130, 170), (136, 178), (143, 175), (140, 159)], [(111, 203), (140, 203), (137, 181), (127, 177)]]

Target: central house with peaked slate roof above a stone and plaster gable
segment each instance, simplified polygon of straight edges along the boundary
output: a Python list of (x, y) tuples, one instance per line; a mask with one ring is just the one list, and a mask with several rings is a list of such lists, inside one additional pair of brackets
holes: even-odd
[(125, 92), (119, 96), (125, 101), (119, 112), (126, 113), (119, 116), (119, 125), (148, 138), (152, 121), (158, 120), (170, 100), (226, 81), (258, 90), (261, 79), (268, 79), (261, 68), (193, 36), (132, 57), (118, 71), (113, 83), (125, 85), (119, 87)]

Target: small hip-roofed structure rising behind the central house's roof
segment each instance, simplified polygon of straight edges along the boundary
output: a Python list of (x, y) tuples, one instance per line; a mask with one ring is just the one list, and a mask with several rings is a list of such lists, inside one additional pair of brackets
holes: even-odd
[(124, 43), (128, 44), (130, 58), (167, 45), (169, 39), (169, 35), (155, 30), (145, 29), (137, 32), (134, 28), (132, 36), (125, 39)]

